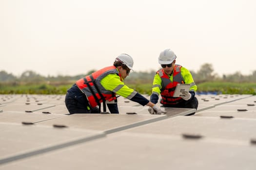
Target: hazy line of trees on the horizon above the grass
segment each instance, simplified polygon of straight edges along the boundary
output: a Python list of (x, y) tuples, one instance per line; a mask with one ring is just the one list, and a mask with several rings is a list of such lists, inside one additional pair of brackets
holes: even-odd
[[(89, 75), (96, 70), (90, 70), (85, 75)], [(214, 72), (212, 64), (206, 63), (203, 64), (200, 69), (195, 72), (190, 70), (194, 81), (199, 84), (203, 82), (213, 82), (213, 81), (224, 81), (224, 82), (242, 82), (242, 83), (253, 83), (256, 82), (256, 70), (252, 71), (250, 75), (242, 75), (239, 71), (236, 71), (233, 74), (223, 74), (221, 77)], [(156, 70), (150, 71), (139, 71), (131, 73), (126, 79), (125, 82), (129, 84), (140, 84), (140, 83), (152, 83)], [(76, 76), (68, 75), (58, 75), (58, 76), (42, 76), (36, 73), (33, 70), (24, 71), (19, 77), (13, 75), (12, 73), (7, 73), (4, 70), (0, 70), (0, 83), (11, 83), (13, 85), (19, 85), (24, 83), (29, 84), (70, 84), (84, 77), (85, 75), (79, 74)]]

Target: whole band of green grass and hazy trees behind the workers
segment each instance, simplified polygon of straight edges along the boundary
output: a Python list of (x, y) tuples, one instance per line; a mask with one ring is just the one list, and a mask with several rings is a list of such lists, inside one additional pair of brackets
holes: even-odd
[[(34, 71), (24, 71), (20, 77), (6, 71), (0, 71), (0, 94), (65, 94), (77, 80), (90, 75), (95, 70), (90, 70), (84, 75), (76, 76), (41, 76)], [(198, 93), (214, 92), (215, 94), (256, 94), (256, 70), (250, 75), (242, 75), (239, 72), (218, 76), (214, 73), (211, 64), (204, 64), (194, 72), (194, 81), (197, 84)], [(151, 94), (152, 81), (156, 70), (147, 72), (132, 72), (125, 84), (141, 94)]]

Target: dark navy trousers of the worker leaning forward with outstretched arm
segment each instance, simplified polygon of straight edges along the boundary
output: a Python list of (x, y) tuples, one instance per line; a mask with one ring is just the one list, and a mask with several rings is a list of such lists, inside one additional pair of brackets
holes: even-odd
[(65, 104), (70, 114), (74, 113), (98, 113), (98, 107), (88, 109), (89, 106), (86, 96), (80, 91), (78, 86), (74, 84), (68, 89)]

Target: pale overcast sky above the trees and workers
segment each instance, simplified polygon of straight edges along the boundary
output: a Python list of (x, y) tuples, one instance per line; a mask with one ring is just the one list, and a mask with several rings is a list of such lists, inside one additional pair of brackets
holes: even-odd
[(77, 75), (113, 64), (157, 70), (172, 49), (193, 71), (256, 70), (256, 0), (0, 0), (0, 70)]

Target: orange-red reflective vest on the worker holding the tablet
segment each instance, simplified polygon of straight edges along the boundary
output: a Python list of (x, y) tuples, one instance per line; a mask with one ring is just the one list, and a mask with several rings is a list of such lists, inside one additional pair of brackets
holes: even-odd
[(182, 66), (175, 65), (173, 72), (173, 82), (170, 80), (169, 76), (164, 72), (163, 69), (158, 70), (158, 75), (161, 77), (161, 101), (162, 104), (177, 104), (182, 100), (180, 97), (173, 97), (175, 88), (177, 84), (184, 84), (184, 79), (180, 73), (180, 68)]

